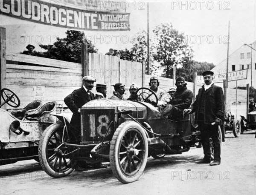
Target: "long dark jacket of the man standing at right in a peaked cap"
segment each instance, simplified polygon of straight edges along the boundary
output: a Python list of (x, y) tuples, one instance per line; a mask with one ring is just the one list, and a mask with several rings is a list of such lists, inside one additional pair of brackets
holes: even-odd
[[(200, 111), (200, 101), (202, 98), (202, 91), (204, 86), (199, 89), (195, 102), (192, 104), (192, 113), (195, 112), (195, 123), (198, 123), (198, 112)], [(224, 119), (224, 95), (222, 88), (212, 84), (212, 86), (205, 92), (204, 101), (204, 123), (211, 124), (215, 122), (215, 118)]]

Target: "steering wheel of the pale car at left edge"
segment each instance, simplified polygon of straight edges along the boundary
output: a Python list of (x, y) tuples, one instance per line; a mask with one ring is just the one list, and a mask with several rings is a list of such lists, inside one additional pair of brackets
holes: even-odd
[(1, 90), (1, 96), (4, 100), (4, 103), (0, 105), (3, 106), (3, 104), (7, 103), (8, 105), (17, 108), (20, 106), (20, 99), (19, 97), (10, 89), (3, 88)]

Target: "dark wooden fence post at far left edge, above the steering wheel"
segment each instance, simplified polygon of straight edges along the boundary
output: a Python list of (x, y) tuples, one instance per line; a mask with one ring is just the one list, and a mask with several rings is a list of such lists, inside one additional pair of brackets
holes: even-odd
[[(0, 27), (0, 86), (1, 90), (6, 88), (6, 29)], [(0, 103), (3, 103), (1, 97)], [(2, 106), (2, 109), (6, 109), (6, 104)]]

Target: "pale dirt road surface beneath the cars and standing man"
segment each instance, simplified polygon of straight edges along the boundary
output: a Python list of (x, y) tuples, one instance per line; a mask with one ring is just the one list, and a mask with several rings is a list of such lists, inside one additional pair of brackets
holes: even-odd
[(110, 167), (53, 179), (39, 163), (20, 161), (0, 166), (0, 194), (256, 194), (254, 134), (227, 134), (219, 166), (195, 163), (203, 157), (202, 148), (161, 160), (148, 158), (140, 179), (130, 184), (114, 178)]

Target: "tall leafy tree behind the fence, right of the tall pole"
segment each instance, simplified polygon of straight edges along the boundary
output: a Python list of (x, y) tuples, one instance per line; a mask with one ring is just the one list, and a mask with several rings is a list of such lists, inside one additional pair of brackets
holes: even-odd
[(160, 24), (153, 32), (157, 38), (154, 59), (164, 67), (166, 77), (172, 78), (174, 66), (186, 68), (191, 65), (193, 51), (186, 43), (183, 33), (173, 29), (171, 23)]

